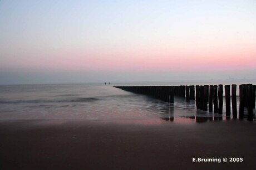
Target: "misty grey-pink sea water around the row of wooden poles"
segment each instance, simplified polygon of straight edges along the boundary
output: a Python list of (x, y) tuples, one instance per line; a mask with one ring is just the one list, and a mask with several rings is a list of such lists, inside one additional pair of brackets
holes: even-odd
[[(171, 122), (225, 120), (225, 99), (223, 115), (218, 115), (197, 110), (195, 101), (186, 102), (183, 98), (175, 97), (174, 104), (169, 104), (113, 87), (181, 84), (207, 83), (1, 85), (0, 120), (81, 119)], [(239, 97), (237, 101), (239, 106)]]

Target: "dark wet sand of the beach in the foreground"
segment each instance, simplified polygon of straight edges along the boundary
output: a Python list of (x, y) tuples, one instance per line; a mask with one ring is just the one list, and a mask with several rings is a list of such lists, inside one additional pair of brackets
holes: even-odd
[[(149, 121), (150, 122), (150, 121)], [(256, 123), (0, 121), (0, 169), (255, 169)], [(243, 157), (243, 162), (192, 162)]]

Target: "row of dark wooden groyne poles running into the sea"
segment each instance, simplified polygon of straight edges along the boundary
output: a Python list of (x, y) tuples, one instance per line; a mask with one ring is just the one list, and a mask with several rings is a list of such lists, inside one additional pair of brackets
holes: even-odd
[[(143, 94), (165, 102), (174, 103), (174, 96), (184, 97), (187, 102), (195, 100), (196, 108), (204, 111), (223, 114), (223, 85), (180, 85), (180, 86), (115, 86), (116, 88)], [(244, 118), (244, 107), (247, 107), (248, 120), (253, 120), (255, 109), (256, 85), (239, 85), (239, 119)], [(237, 85), (233, 84), (230, 95), (230, 85), (224, 86), (226, 116), (237, 119)]]

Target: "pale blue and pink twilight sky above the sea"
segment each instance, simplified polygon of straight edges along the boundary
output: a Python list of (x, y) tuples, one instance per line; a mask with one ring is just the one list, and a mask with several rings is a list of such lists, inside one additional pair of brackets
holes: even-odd
[(0, 1), (0, 84), (256, 79), (256, 1)]

